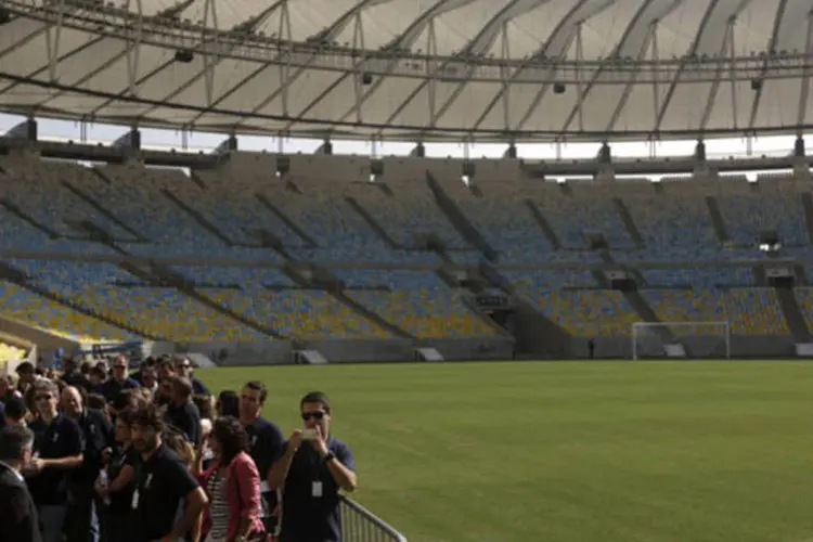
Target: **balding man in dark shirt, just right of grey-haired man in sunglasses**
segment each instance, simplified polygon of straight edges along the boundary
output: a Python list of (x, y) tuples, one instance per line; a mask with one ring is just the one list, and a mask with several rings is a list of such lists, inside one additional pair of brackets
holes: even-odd
[(82, 464), (70, 474), (66, 539), (67, 542), (98, 542), (99, 515), (93, 482), (103, 466), (105, 453), (113, 446), (113, 427), (102, 411), (85, 405), (82, 392), (74, 386), (62, 391), (62, 411), (79, 425), (85, 439)]

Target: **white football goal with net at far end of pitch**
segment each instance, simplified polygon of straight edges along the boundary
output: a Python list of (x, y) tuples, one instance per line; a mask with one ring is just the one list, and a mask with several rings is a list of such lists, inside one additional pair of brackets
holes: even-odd
[(728, 322), (635, 322), (632, 359), (731, 358)]

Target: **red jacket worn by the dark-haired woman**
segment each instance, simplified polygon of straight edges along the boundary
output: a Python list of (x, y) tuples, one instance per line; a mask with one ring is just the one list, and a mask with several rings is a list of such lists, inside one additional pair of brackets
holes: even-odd
[[(209, 478), (220, 468), (217, 460), (197, 480), (204, 490), (208, 490)], [(260, 520), (260, 475), (257, 465), (246, 452), (240, 452), (225, 470), (225, 491), (229, 500), (229, 533), (227, 540), (234, 540), (242, 518), (249, 518), (251, 528), (246, 533), (249, 537), (263, 530)], [(209, 495), (211, 499), (211, 495)], [(211, 520), (207, 514), (204, 519), (203, 531), (208, 532)]]

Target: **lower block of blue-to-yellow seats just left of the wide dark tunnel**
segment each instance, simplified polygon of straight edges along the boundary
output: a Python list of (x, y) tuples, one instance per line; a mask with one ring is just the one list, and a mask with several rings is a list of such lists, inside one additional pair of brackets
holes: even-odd
[(417, 271), (334, 270), (345, 294), (418, 338), (491, 336), (496, 332), (437, 274)]

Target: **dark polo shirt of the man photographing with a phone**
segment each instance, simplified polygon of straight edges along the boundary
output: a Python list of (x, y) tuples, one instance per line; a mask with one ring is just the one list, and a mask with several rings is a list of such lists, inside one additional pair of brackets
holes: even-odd
[[(356, 470), (350, 447), (328, 437), (327, 449), (343, 465)], [(321, 482), (321, 496), (313, 495), (313, 482)], [(340, 542), (339, 487), (309, 442), (297, 450), (282, 494), (280, 542)]]

